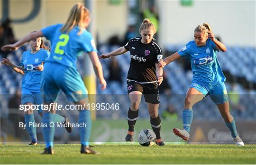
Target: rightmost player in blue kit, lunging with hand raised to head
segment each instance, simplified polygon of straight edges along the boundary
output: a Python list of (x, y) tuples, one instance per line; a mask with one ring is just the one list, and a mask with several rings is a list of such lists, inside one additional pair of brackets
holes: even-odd
[(204, 23), (195, 28), (194, 41), (188, 42), (181, 50), (159, 62), (158, 66), (164, 67), (172, 61), (186, 57), (189, 58), (192, 65), (192, 84), (184, 101), (183, 129), (174, 128), (173, 131), (183, 140), (189, 140), (193, 118), (192, 106), (210, 95), (231, 131), (233, 141), (238, 146), (244, 146), (244, 142), (238, 136), (235, 120), (229, 112), (229, 98), (224, 84), (226, 77), (222, 73), (217, 59), (219, 50), (226, 51), (227, 49), (214, 37), (210, 25)]

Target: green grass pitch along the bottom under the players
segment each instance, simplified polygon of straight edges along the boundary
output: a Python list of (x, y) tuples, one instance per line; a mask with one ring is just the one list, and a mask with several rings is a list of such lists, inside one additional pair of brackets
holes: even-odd
[(101, 155), (80, 154), (78, 144), (54, 146), (54, 155), (40, 155), (44, 145), (1, 145), (0, 164), (256, 164), (256, 145), (95, 145)]

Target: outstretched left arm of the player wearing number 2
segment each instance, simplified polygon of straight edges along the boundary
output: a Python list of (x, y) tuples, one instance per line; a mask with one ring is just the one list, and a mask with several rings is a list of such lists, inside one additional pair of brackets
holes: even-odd
[(17, 41), (14, 44), (9, 44), (9, 45), (4, 45), (2, 46), (2, 50), (6, 51), (6, 50), (17, 50), (20, 46), (22, 46), (24, 43), (34, 39), (34, 38), (38, 38), (38, 37), (42, 37), (44, 36), (42, 31), (36, 31), (33, 33), (29, 33), (27, 34), (25, 37), (23, 37), (21, 40)]

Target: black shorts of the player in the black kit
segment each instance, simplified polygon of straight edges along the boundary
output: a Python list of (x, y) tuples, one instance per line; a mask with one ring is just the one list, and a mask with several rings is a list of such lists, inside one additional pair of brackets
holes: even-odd
[(153, 83), (138, 83), (134, 81), (127, 81), (128, 94), (132, 91), (140, 91), (144, 95), (145, 102), (151, 104), (159, 104), (159, 90), (158, 84)]

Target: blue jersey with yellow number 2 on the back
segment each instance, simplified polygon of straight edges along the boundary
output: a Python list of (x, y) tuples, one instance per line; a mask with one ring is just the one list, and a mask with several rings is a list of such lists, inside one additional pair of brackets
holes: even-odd
[(75, 26), (69, 33), (61, 33), (63, 25), (56, 24), (42, 29), (43, 35), (51, 41), (51, 56), (48, 61), (76, 68), (76, 59), (82, 52), (97, 51), (95, 42), (86, 29)]

